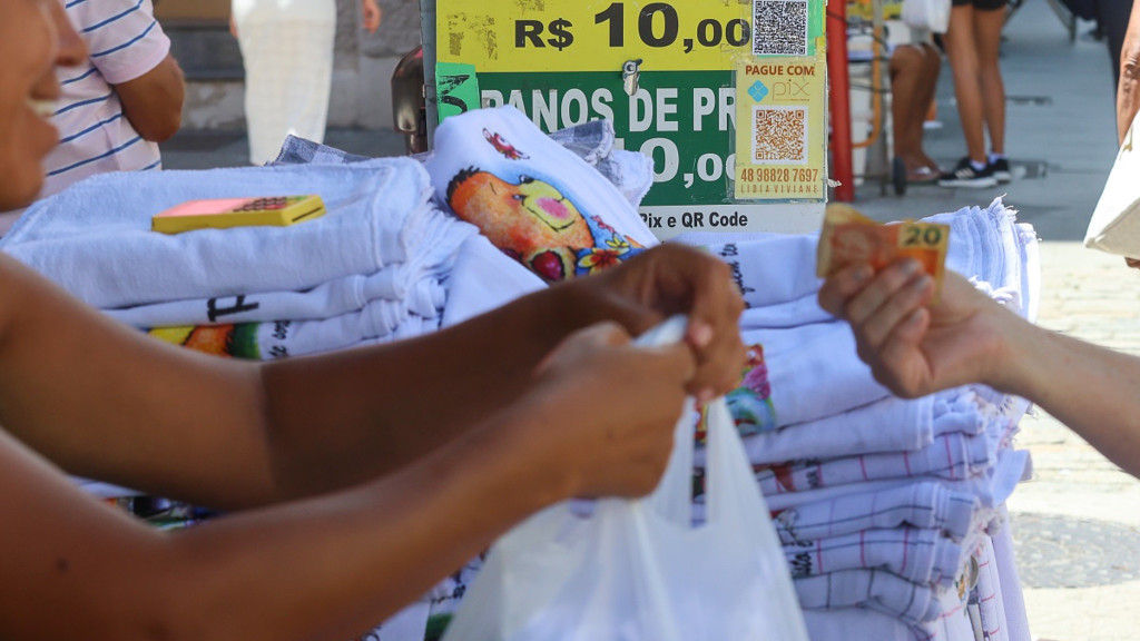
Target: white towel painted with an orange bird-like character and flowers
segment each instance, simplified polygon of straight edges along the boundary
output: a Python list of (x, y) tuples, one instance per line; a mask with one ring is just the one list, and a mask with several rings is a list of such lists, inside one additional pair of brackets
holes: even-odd
[(548, 283), (657, 244), (612, 182), (513, 107), (448, 119), (425, 165), (440, 203)]

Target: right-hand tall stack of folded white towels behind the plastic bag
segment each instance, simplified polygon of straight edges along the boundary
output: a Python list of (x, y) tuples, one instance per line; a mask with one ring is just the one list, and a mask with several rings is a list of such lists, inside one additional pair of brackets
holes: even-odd
[[(951, 225), (950, 269), (1033, 317), (1032, 229), (1000, 201), (930, 220)], [(1027, 472), (1012, 437), (1028, 404), (982, 387), (889, 396), (850, 328), (815, 302), (815, 236), (683, 241), (724, 258), (749, 306), (749, 370), (730, 406), (813, 641), (968, 641), (976, 630), (1027, 641), (1027, 625), (1009, 625), (1024, 608), (1017, 582), (1000, 581), (992, 537)]]

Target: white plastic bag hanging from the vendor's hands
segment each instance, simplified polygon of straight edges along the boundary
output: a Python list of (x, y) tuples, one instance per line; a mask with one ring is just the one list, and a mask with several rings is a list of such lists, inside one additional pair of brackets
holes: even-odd
[[(658, 330), (638, 342), (679, 340), (684, 322)], [(562, 503), (520, 524), (491, 547), (443, 641), (806, 641), (732, 416), (723, 399), (709, 412), (707, 522), (691, 525), (686, 407), (653, 494), (597, 501), (592, 516)]]

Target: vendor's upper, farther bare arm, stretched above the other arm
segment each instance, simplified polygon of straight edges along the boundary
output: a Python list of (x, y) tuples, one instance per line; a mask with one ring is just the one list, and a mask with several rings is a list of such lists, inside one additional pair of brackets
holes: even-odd
[(437, 334), (264, 365), (147, 340), (5, 257), (0, 270), (0, 424), (71, 473), (227, 509), (424, 456), (516, 400), (551, 349), (598, 320), (640, 333), (690, 314), (689, 391), (706, 398), (743, 359), (727, 268), (675, 246)]

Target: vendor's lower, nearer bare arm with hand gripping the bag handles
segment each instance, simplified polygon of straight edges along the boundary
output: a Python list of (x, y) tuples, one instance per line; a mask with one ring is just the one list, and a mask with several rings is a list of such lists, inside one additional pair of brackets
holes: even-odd
[(522, 400), (384, 479), (173, 534), (0, 432), (0, 636), (355, 636), (530, 512), (656, 484), (694, 365), (684, 346), (627, 341), (612, 325), (576, 335)]

